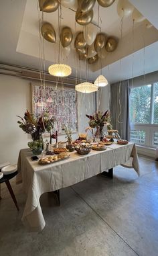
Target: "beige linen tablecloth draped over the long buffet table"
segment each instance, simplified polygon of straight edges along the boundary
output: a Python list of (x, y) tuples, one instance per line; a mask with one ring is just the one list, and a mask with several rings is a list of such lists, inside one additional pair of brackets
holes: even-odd
[(131, 142), (124, 146), (111, 144), (106, 151), (90, 151), (84, 156), (72, 152), (70, 158), (49, 165), (31, 161), (31, 155), (29, 148), (19, 152), (16, 180), (23, 182), (27, 194), (22, 222), (31, 231), (38, 232), (46, 224), (40, 206), (42, 194), (68, 187), (121, 164), (133, 167), (139, 175), (137, 151)]

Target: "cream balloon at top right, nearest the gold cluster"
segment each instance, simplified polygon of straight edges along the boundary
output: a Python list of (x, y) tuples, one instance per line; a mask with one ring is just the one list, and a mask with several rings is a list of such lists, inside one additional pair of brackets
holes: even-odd
[(118, 0), (117, 4), (117, 13), (118, 16), (121, 17), (128, 17), (133, 13), (134, 6), (129, 3), (128, 0)]

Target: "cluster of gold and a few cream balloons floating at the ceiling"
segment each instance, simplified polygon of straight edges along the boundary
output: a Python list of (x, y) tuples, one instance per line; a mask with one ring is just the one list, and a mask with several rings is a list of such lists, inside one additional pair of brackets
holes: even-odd
[[(115, 0), (97, 0), (98, 5), (109, 7)], [(39, 0), (40, 10), (44, 12), (54, 12), (59, 5), (76, 9), (76, 23), (84, 26), (84, 31), (79, 32), (74, 38), (74, 48), (78, 54), (79, 60), (88, 60), (92, 64), (98, 60), (98, 57), (105, 58), (107, 52), (113, 52), (117, 46), (117, 40), (114, 37), (107, 37), (104, 33), (97, 34), (97, 26), (91, 24), (93, 18), (93, 7), (96, 0)], [(56, 43), (56, 32), (49, 22), (44, 22), (41, 27), (42, 36), (49, 42)], [(64, 52), (68, 56), (70, 53), (70, 44), (73, 39), (71, 28), (65, 26), (60, 33), (60, 42)]]

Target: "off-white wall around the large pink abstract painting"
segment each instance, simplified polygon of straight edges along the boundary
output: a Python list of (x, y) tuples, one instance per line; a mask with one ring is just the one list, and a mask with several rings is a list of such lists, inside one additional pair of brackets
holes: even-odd
[[(0, 75), (0, 163), (17, 163), (19, 150), (27, 148), (30, 137), (17, 124), (16, 116), (23, 117), (26, 110), (31, 111), (31, 81), (9, 75)], [(95, 111), (94, 94), (78, 93), (78, 132), (88, 126), (85, 114)], [(72, 138), (78, 138), (73, 134)], [(60, 136), (59, 140), (65, 140)]]

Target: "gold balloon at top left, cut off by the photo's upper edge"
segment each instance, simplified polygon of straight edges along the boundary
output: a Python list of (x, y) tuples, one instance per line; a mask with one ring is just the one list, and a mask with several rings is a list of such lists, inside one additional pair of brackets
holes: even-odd
[(58, 0), (39, 0), (40, 11), (44, 11), (46, 13), (52, 13), (56, 11), (60, 5)]

